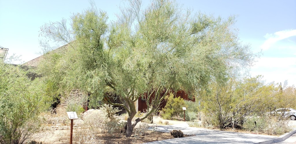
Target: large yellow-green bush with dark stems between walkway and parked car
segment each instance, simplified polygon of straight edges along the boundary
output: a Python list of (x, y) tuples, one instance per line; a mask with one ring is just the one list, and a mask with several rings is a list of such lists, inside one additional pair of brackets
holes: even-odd
[(262, 115), (278, 105), (278, 88), (264, 84), (261, 76), (227, 84), (211, 84), (210, 93), (201, 95), (207, 122), (215, 127), (239, 127), (248, 116)]

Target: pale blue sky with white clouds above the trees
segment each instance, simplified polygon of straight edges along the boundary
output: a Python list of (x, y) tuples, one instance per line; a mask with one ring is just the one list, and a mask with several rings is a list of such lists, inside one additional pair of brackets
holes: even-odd
[[(96, 7), (115, 20), (119, 6), (126, 1), (94, 0)], [(296, 86), (296, 1), (250, 0), (205, 1), (177, 0), (193, 12), (212, 14), (223, 19), (236, 15), (238, 36), (254, 53), (261, 52), (250, 68), (250, 75), (262, 75), (266, 83)], [(144, 5), (150, 1), (144, 1)], [(39, 31), (44, 23), (60, 21), (90, 6), (82, 0), (0, 0), (0, 46), (8, 48), (8, 56), (21, 55), (22, 62), (38, 56)], [(15, 62), (17, 63), (17, 62)], [(18, 62), (20, 63), (20, 62)]]

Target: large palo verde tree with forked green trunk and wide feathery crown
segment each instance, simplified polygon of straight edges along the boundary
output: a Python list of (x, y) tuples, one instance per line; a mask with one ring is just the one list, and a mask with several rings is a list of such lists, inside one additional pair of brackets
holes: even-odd
[[(105, 12), (92, 7), (73, 15), (70, 29), (65, 20), (45, 24), (41, 35), (68, 44), (62, 52), (44, 55), (38, 71), (53, 89), (78, 88), (91, 94), (91, 103), (125, 108), (127, 137), (171, 89), (194, 95), (210, 80), (226, 81), (233, 68), (253, 61), (250, 48), (237, 38), (233, 16), (192, 15), (166, 0), (152, 1), (146, 9), (131, 0), (120, 10), (110, 23)], [(134, 102), (144, 95), (148, 112), (132, 123)], [(112, 103), (111, 97), (123, 103)]]

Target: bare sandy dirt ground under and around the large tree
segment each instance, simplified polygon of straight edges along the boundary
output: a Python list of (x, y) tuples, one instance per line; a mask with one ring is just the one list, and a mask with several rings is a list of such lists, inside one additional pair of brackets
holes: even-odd
[[(118, 117), (119, 119), (124, 119), (124, 117)], [(159, 124), (159, 121), (162, 121), (163, 124)], [(157, 125), (165, 125), (164, 122), (168, 121), (169, 124), (181, 124), (186, 123), (184, 121), (171, 121), (171, 120), (163, 120), (159, 116), (153, 117), (153, 124), (149, 124), (150, 126)], [(137, 126), (139, 126), (142, 122), (139, 122)], [(137, 127), (136, 126), (136, 127)], [(38, 132), (32, 136), (30, 141), (34, 144), (68, 144), (70, 140), (70, 126), (67, 124), (65, 129), (47, 129), (41, 132)], [(76, 135), (75, 135), (76, 134)], [(81, 141), (85, 141), (87, 143), (92, 144), (140, 144), (140, 143), (148, 143), (158, 140), (166, 140), (172, 139), (173, 136), (170, 133), (164, 132), (156, 132), (156, 131), (147, 131), (145, 135), (142, 136), (133, 136), (126, 137), (124, 133), (115, 133), (114, 135), (110, 135), (107, 133), (96, 133), (93, 134), (87, 129), (82, 129), (78, 127), (74, 127), (73, 129), (73, 144), (83, 143)]]

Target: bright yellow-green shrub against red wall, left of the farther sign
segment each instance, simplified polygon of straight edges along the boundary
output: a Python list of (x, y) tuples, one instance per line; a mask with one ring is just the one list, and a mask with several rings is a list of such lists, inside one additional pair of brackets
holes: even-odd
[(174, 117), (180, 116), (183, 113), (182, 107), (185, 106), (184, 99), (181, 97), (175, 97), (173, 94), (165, 96), (167, 104), (162, 109), (164, 114), (162, 115), (163, 119), (173, 119)]

